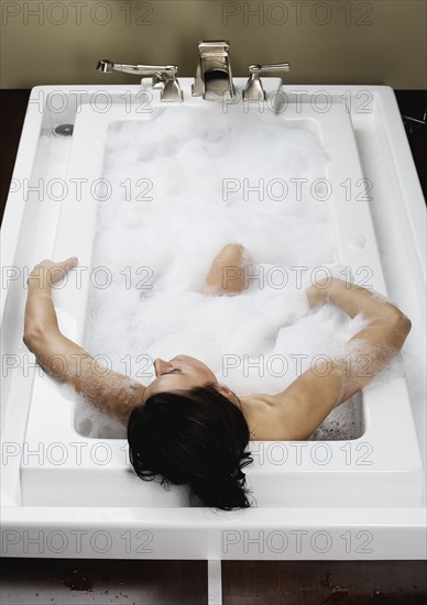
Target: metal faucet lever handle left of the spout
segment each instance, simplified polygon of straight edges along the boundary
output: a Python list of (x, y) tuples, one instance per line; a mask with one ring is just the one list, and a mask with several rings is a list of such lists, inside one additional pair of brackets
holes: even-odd
[(112, 63), (108, 59), (102, 59), (97, 65), (98, 72), (111, 74), (112, 72), (123, 72), (124, 74), (133, 74), (142, 78), (153, 78), (153, 88), (162, 88), (162, 101), (173, 102), (183, 101), (183, 91), (176, 73), (176, 65), (127, 65), (124, 63)]

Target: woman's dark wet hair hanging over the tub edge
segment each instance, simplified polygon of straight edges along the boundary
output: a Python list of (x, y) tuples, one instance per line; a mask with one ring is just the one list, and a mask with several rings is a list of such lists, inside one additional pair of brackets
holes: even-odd
[(241, 409), (209, 383), (157, 393), (129, 417), (130, 461), (144, 481), (187, 484), (190, 497), (222, 510), (250, 506), (241, 471), (253, 462)]

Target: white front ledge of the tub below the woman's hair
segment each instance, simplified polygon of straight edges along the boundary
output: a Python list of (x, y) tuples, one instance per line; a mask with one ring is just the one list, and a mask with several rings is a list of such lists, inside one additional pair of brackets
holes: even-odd
[[(175, 514), (169, 509), (138, 508), (50, 508), (50, 507), (7, 507), (3, 509), (2, 532), (8, 544), (8, 536), (36, 537), (42, 541), (51, 535), (73, 532), (91, 536), (105, 532), (111, 539), (108, 552), (96, 552), (90, 546), (80, 542), (78, 552), (29, 552), (22, 543), (11, 544), (8, 557), (52, 558), (97, 558), (97, 559), (219, 559), (219, 560), (426, 560), (426, 524), (423, 508), (262, 508), (238, 512), (211, 513), (208, 509), (179, 508)], [(304, 528), (304, 529), (303, 529)], [(7, 534), (9, 532), (9, 535)], [(42, 532), (42, 535), (40, 534)], [(43, 534), (45, 532), (45, 534)], [(67, 534), (69, 532), (69, 535)], [(146, 552), (125, 551), (123, 536), (150, 534), (157, 540), (158, 550)], [(328, 550), (282, 552), (253, 552), (239, 544), (233, 552), (223, 551), (225, 532), (247, 532), (248, 538), (263, 540), (272, 534), (294, 535), (300, 532), (313, 537), (329, 537)], [(343, 551), (346, 538), (359, 540), (348, 552)], [(227, 535), (227, 534), (226, 534)], [(81, 540), (84, 540), (84, 538)], [(70, 540), (72, 541), (72, 540)], [(372, 543), (371, 543), (372, 542)], [(165, 552), (165, 543), (169, 546)], [(347, 542), (346, 542), (347, 544)], [(371, 548), (374, 547), (374, 548)], [(85, 548), (86, 547), (86, 548)], [(348, 547), (346, 546), (346, 549)], [(371, 551), (371, 552), (370, 552)], [(4, 554), (4, 546), (2, 548)], [(254, 556), (255, 554), (255, 556)]]

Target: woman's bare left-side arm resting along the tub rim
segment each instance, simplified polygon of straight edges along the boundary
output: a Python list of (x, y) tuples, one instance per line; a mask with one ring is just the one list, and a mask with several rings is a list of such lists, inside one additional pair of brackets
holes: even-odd
[(76, 264), (77, 258), (46, 260), (34, 267), (28, 280), (23, 340), (50, 375), (73, 385), (89, 404), (125, 425), (132, 408), (141, 405), (145, 387), (98, 364), (58, 328), (52, 285)]

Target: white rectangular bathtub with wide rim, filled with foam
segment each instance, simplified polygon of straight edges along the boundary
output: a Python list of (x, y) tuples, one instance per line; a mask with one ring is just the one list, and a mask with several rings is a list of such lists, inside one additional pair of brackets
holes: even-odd
[[(212, 106), (190, 95), (194, 111)], [(260, 111), (238, 99), (223, 111)], [(339, 441), (250, 442), (245, 469), (256, 506), (190, 507), (187, 492), (143, 483), (120, 439), (74, 428), (75, 402), (43, 375), (22, 343), (25, 279), (42, 257), (77, 255), (90, 267), (97, 200), (70, 184), (102, 178), (108, 128), (151, 119), (158, 91), (139, 86), (32, 90), (2, 227), (2, 554), (129, 559), (424, 559), (426, 557), (425, 207), (393, 90), (281, 86), (265, 78), (265, 111), (314, 130), (331, 156), (339, 261), (370, 267), (372, 286), (410, 317), (405, 376), (359, 394), (360, 437)], [(269, 105), (270, 103), (270, 105)], [(165, 107), (163, 103), (162, 107)], [(176, 107), (176, 106), (174, 106)], [(167, 111), (167, 108), (166, 108)], [(41, 133), (73, 123), (63, 163)], [(54, 180), (64, 195), (46, 195)], [(346, 179), (364, 195), (344, 195)], [(41, 189), (40, 189), (40, 184)], [(37, 186), (39, 185), (39, 189)], [(42, 191), (42, 193), (41, 193)], [(360, 194), (359, 188), (357, 194)], [(42, 199), (41, 199), (42, 198)], [(354, 245), (354, 233), (363, 244)], [(89, 272), (65, 283), (55, 306), (81, 342)]]

